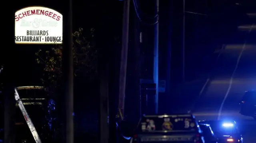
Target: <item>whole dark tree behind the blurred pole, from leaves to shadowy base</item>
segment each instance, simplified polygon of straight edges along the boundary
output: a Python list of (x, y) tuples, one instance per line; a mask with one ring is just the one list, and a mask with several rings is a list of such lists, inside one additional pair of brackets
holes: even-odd
[[(98, 79), (98, 51), (94, 45), (94, 29), (86, 31), (79, 28), (78, 31), (73, 33), (73, 51), (74, 51), (74, 110), (76, 116), (85, 114), (84, 109), (86, 104), (93, 103), (90, 99), (86, 100), (86, 97), (92, 95), (95, 92), (92, 90), (84, 90), (88, 88), (88, 83), (95, 85), (95, 80)], [(43, 67), (43, 75), (41, 81), (43, 85), (48, 88), (49, 98), (54, 99), (56, 102), (56, 114), (52, 117), (56, 117), (56, 121), (53, 121), (54, 133), (58, 134), (61, 123), (61, 101), (62, 92), (60, 87), (62, 84), (62, 45), (55, 45), (50, 50), (39, 50), (36, 53), (37, 63)], [(86, 81), (86, 84), (84, 83)], [(85, 101), (81, 103), (81, 101)], [(78, 106), (79, 105), (79, 106)], [(90, 109), (87, 109), (90, 110)], [(60, 114), (58, 114), (60, 113)], [(76, 117), (75, 116), (75, 117)], [(55, 118), (54, 117), (54, 118)], [(78, 117), (80, 119), (80, 117)], [(75, 119), (76, 120), (76, 119)], [(81, 121), (76, 121), (75, 126), (81, 127)]]

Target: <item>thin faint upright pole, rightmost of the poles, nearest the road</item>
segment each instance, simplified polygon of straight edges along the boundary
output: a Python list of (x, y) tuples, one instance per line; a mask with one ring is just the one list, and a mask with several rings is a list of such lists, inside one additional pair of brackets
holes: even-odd
[(183, 0), (182, 20), (182, 82), (185, 82), (185, 0)]

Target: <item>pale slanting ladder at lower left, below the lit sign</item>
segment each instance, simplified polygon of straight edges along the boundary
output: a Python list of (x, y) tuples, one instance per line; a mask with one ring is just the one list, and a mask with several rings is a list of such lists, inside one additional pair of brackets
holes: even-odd
[(20, 108), (20, 110), (21, 110), (21, 112), (22, 112), (22, 114), (23, 114), (27, 124), (28, 124), (28, 127), (29, 127), (29, 129), (30, 129), (30, 131), (31, 131), (31, 133), (32, 133), (36, 143), (42, 143), (42, 141), (41, 141), (41, 139), (40, 139), (40, 137), (39, 137), (39, 135), (38, 135), (38, 133), (36, 131), (36, 128), (34, 127), (34, 124), (32, 123), (30, 117), (28, 116), (28, 112), (26, 111), (26, 109), (25, 109), (25, 107), (24, 107), (24, 105), (22, 103), (22, 100), (20, 99), (20, 96), (19, 96), (18, 91), (17, 91), (16, 88), (15, 88), (15, 100), (16, 100), (16, 102), (17, 102), (17, 104), (18, 104), (18, 106), (19, 106), (19, 108)]

